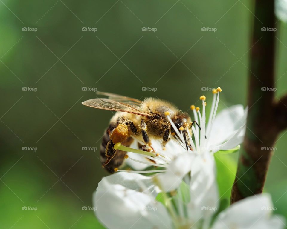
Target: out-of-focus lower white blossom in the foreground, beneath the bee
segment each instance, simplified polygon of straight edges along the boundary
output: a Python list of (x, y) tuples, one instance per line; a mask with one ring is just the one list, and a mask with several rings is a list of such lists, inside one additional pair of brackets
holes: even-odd
[[(183, 154), (179, 157), (183, 157)], [(281, 229), (284, 219), (272, 216), (276, 210), (268, 194), (248, 197), (225, 209), (211, 225), (218, 210), (214, 157), (206, 153), (194, 158), (191, 179), (184, 177), (189, 192), (184, 202), (166, 199), (166, 206), (155, 197), (161, 192), (152, 177), (136, 173), (116, 173), (105, 177), (94, 193), (96, 215), (113, 228), (196, 228), (196, 229)], [(179, 159), (180, 161), (181, 159)], [(161, 174), (160, 174), (161, 175)]]

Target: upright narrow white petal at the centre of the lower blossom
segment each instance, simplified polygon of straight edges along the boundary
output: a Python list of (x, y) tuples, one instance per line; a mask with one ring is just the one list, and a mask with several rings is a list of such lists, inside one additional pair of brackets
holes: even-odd
[(215, 162), (209, 153), (201, 154), (193, 161), (190, 196), (191, 202), (188, 205), (190, 219), (196, 222), (201, 218), (209, 223), (219, 205)]

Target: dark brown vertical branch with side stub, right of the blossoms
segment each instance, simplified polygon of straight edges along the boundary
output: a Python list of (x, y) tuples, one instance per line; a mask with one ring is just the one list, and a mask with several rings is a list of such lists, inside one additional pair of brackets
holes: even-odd
[(275, 27), (274, 0), (255, 0), (253, 20), (248, 89), (250, 110), (230, 203), (262, 193), (272, 147), (279, 132), (287, 127), (287, 96), (275, 100), (272, 90), (275, 33), (262, 29)]

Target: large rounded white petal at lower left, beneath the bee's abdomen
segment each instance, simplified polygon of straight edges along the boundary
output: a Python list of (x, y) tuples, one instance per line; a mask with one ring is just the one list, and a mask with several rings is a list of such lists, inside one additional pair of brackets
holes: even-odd
[[(142, 184), (142, 185), (141, 185)], [(143, 192), (143, 187), (150, 190)], [(106, 228), (172, 228), (167, 210), (155, 202), (151, 178), (137, 173), (104, 177), (93, 195), (96, 215)]]

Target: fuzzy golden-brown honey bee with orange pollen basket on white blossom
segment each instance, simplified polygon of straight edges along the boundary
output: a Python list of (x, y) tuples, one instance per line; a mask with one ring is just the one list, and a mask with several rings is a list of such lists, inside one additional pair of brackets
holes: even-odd
[[(183, 113), (172, 103), (155, 98), (146, 98), (143, 101), (113, 93), (97, 92), (108, 98), (90, 99), (82, 102), (83, 105), (103, 110), (116, 111), (106, 129), (100, 146), (100, 158), (109, 172), (123, 164), (126, 152), (115, 150), (114, 146), (120, 142), (129, 147), (134, 138), (144, 142), (145, 149), (154, 152), (150, 139), (160, 140), (164, 148), (170, 139), (181, 141), (170, 124), (169, 114), (175, 127), (184, 137), (186, 149), (192, 150), (189, 134), (196, 121), (191, 121), (187, 113)], [(198, 125), (196, 123), (196, 125)], [(199, 127), (199, 125), (198, 125)], [(199, 127), (200, 128), (200, 127)], [(132, 138), (132, 136), (134, 138)]]

